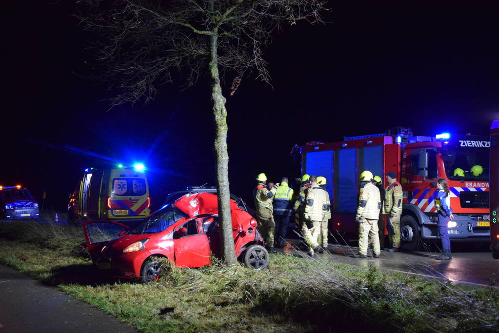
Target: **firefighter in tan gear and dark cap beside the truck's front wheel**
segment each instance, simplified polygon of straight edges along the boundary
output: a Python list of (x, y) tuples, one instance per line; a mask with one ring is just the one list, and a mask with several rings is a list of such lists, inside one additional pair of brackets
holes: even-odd
[(388, 252), (397, 252), (400, 249), (400, 214), (402, 213), (402, 185), (397, 181), (395, 172), (388, 171), (383, 202), (383, 214), (388, 215), (388, 238), (391, 248)]

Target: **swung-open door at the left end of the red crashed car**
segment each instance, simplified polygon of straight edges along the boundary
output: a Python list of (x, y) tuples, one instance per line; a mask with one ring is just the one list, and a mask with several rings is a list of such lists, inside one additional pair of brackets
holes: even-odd
[(130, 227), (118, 222), (112, 221), (85, 221), (83, 222), (83, 231), (87, 241), (88, 252), (95, 264), (99, 258), (102, 248), (110, 241), (120, 236), (123, 231)]

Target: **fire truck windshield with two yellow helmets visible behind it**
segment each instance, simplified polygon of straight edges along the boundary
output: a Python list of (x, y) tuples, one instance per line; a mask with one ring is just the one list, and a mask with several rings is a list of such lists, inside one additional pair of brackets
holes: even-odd
[(489, 180), (489, 149), (448, 149), (442, 160), (451, 180)]

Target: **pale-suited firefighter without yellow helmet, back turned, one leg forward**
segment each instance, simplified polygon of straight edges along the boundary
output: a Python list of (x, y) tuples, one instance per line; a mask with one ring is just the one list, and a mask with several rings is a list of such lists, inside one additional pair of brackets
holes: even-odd
[(301, 232), (305, 243), (308, 245), (308, 255), (314, 257), (314, 251), (324, 251), (319, 243), (317, 237), (320, 233), (320, 227), (324, 218), (324, 210), (329, 204), (327, 192), (317, 184), (317, 177), (310, 176), (310, 186), (300, 193), (300, 197), (304, 197), (305, 202), (305, 221), (302, 225)]

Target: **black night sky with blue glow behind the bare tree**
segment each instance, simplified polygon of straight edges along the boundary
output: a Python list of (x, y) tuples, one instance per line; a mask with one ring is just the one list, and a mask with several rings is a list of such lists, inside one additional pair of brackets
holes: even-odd
[[(225, 90), (231, 190), (247, 200), (259, 172), (298, 176), (294, 143), (395, 126), (487, 135), (499, 119), (497, 1), (328, 5), (331, 23), (274, 36), (265, 54), (272, 87), (245, 78), (233, 97)], [(46, 207), (64, 209), (84, 168), (115, 164), (68, 147), (144, 162), (153, 208), (186, 185), (215, 185), (208, 81), (162, 85), (148, 105), (107, 111), (117, 91), (88, 78), (91, 35), (71, 16), (75, 1), (4, 6), (0, 185), (20, 183), (38, 197), (45, 189)]]

